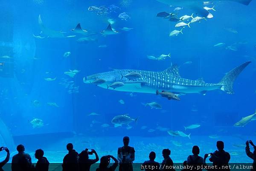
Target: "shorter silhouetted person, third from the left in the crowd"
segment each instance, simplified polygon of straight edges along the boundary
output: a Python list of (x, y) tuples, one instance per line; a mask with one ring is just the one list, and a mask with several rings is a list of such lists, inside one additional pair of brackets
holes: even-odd
[(44, 151), (38, 149), (35, 151), (35, 158), (38, 159), (38, 162), (35, 165), (35, 171), (48, 171), (49, 170), (49, 161), (44, 157)]

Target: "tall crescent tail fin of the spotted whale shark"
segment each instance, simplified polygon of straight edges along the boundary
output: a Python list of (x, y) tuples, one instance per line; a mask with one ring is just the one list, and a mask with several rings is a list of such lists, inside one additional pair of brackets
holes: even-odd
[(219, 84), (222, 85), (221, 90), (228, 94), (233, 94), (234, 81), (236, 80), (237, 76), (244, 70), (244, 68), (247, 67), (247, 65), (250, 63), (250, 61), (245, 62), (244, 64), (239, 65), (230, 72), (227, 72), (227, 74), (219, 82)]

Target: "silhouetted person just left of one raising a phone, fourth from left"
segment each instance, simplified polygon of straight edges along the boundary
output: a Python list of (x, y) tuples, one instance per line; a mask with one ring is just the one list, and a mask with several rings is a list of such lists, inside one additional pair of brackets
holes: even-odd
[(73, 144), (67, 144), (68, 154), (63, 159), (62, 171), (78, 171), (78, 153), (73, 149)]

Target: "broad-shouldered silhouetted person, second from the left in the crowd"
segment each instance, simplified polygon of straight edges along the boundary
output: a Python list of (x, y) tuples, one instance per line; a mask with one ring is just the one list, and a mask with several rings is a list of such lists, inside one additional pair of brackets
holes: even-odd
[(31, 157), (24, 153), (25, 147), (23, 145), (17, 146), (18, 154), (12, 157), (12, 171), (30, 171), (33, 169)]

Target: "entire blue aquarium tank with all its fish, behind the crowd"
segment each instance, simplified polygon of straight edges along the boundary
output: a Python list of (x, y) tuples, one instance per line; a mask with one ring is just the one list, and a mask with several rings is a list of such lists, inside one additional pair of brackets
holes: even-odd
[[(3, 0), (0, 146), (62, 163), (67, 143), (182, 163), (225, 143), (252, 162), (256, 0)], [(251, 151), (253, 148), (251, 147)], [(0, 160), (6, 156), (0, 152)], [(91, 156), (90, 156), (91, 157)], [(11, 162), (11, 160), (9, 161)]]

